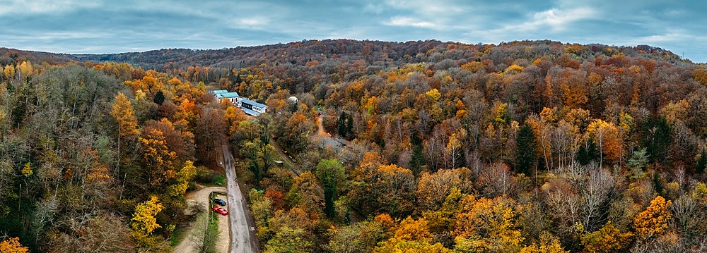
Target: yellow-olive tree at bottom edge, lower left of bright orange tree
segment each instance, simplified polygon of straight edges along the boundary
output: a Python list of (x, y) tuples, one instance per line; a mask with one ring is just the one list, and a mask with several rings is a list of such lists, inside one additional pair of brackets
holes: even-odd
[(598, 231), (587, 233), (580, 239), (584, 245), (583, 252), (599, 253), (599, 252), (617, 252), (625, 249), (631, 243), (631, 232), (621, 233), (618, 228), (614, 228), (612, 222), (604, 224), (604, 227)]

